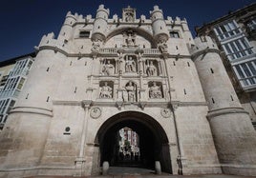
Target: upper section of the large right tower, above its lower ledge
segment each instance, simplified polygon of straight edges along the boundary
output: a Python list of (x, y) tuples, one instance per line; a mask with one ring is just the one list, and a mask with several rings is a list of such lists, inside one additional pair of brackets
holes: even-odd
[(193, 60), (209, 109), (242, 108), (224, 69), (217, 45), (208, 36), (196, 38), (195, 43), (192, 49)]

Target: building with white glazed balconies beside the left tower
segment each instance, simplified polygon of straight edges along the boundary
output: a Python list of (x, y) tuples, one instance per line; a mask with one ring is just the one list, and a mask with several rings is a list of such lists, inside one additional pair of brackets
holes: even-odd
[(34, 56), (35, 54), (31, 53), (0, 63), (0, 129), (4, 128), (8, 113), (15, 106)]

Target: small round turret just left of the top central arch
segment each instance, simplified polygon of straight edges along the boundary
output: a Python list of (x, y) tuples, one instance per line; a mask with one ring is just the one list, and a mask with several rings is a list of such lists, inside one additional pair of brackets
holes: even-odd
[(96, 10), (96, 20), (94, 24), (92, 41), (104, 41), (106, 39), (106, 30), (108, 27), (109, 9), (104, 9), (104, 5), (99, 5)]

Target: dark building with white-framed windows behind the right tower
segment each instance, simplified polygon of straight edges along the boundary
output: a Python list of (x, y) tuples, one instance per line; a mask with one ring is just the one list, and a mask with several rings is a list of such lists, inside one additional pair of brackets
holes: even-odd
[(222, 50), (225, 69), (256, 129), (256, 3), (197, 28)]

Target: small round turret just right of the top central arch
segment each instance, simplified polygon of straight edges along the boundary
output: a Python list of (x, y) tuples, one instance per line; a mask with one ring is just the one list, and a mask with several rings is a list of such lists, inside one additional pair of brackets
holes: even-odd
[(150, 11), (150, 15), (154, 38), (158, 43), (166, 42), (169, 38), (169, 33), (163, 19), (162, 10), (158, 6), (154, 6), (154, 10)]

